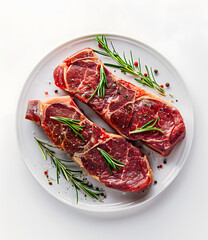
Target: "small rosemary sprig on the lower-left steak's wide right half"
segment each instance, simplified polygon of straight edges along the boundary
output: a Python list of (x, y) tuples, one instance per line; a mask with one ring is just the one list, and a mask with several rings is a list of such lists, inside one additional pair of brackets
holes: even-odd
[(126, 165), (122, 162), (119, 162), (118, 160), (116, 160), (115, 158), (113, 158), (110, 154), (108, 154), (105, 150), (101, 149), (101, 148), (97, 148), (98, 151), (101, 153), (101, 155), (103, 156), (105, 162), (108, 165), (108, 168), (111, 172), (111, 175), (113, 175), (112, 173), (112, 169), (114, 169), (115, 171), (120, 170), (119, 167), (125, 167)]

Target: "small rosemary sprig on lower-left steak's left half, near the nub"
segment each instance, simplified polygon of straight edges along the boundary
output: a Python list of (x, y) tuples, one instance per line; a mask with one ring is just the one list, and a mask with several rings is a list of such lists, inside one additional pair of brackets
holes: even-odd
[(66, 124), (69, 128), (71, 128), (71, 130), (76, 135), (78, 135), (85, 142), (84, 137), (78, 132), (78, 131), (83, 131), (83, 128), (85, 127), (80, 125), (80, 120), (65, 118), (65, 117), (50, 117), (50, 118)]

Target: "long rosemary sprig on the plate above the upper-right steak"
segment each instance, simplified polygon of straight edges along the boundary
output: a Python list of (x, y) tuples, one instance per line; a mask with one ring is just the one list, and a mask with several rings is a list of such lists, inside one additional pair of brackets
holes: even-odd
[[(116, 64), (111, 64), (111, 63), (104, 63), (106, 66), (116, 67), (116, 68), (119, 68), (125, 74), (130, 73), (134, 76), (138, 76), (138, 77), (140, 77), (139, 79), (135, 78), (135, 80), (137, 82), (142, 83), (142, 84), (156, 90), (159, 94), (161, 94), (163, 96), (166, 96), (164, 89), (156, 82), (151, 67), (150, 67), (150, 71), (149, 71), (147, 65), (145, 65), (145, 69), (146, 69), (147, 73), (144, 75), (142, 73), (140, 59), (138, 59), (138, 65), (135, 66), (132, 51), (130, 51), (130, 60), (127, 60), (125, 53), (123, 52), (123, 58), (122, 58), (119, 55), (119, 53), (115, 50), (112, 42), (110, 42), (111, 46), (112, 46), (112, 51), (110, 50), (105, 35), (102, 35), (101, 37), (97, 36), (96, 38), (94, 38), (94, 40), (97, 41), (100, 44), (100, 46), (102, 47), (102, 49), (105, 51), (105, 52), (103, 52), (103, 51), (93, 49), (94, 52), (99, 53), (103, 56), (110, 57), (119, 64), (119, 65), (116, 65)], [(150, 72), (151, 72), (151, 75), (150, 75)]]

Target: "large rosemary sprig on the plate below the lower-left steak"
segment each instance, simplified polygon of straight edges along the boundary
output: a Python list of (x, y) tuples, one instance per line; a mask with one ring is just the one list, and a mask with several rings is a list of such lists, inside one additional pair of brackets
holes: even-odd
[(59, 175), (60, 173), (63, 174), (64, 178), (69, 182), (69, 180), (72, 182), (72, 184), (75, 187), (75, 191), (76, 191), (76, 197), (77, 197), (77, 203), (78, 203), (78, 191), (79, 190), (83, 190), (88, 196), (90, 196), (91, 198), (94, 199), (99, 199), (99, 192), (103, 192), (102, 189), (95, 189), (92, 186), (90, 186), (89, 184), (87, 184), (86, 182), (84, 182), (83, 180), (79, 179), (77, 175), (74, 174), (74, 172), (81, 172), (81, 171), (75, 171), (75, 170), (71, 170), (67, 167), (64, 166), (64, 164), (62, 162), (71, 162), (68, 160), (63, 160), (60, 158), (57, 158), (55, 156), (55, 152), (50, 150), (47, 146), (52, 147), (52, 148), (56, 148), (52, 145), (49, 145), (45, 142), (40, 141), (39, 139), (35, 138), (40, 151), (43, 155), (43, 158), (45, 160), (47, 160), (47, 154), (50, 156), (53, 164), (56, 167), (56, 179), (57, 179), (57, 183), (59, 184)]

